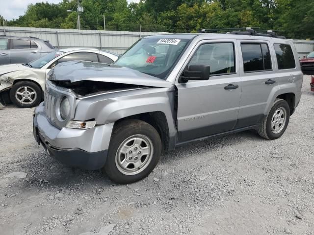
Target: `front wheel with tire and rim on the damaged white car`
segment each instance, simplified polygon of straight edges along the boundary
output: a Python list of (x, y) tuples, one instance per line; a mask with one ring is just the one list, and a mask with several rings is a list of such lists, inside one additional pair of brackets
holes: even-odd
[[(23, 95), (27, 96), (23, 97)], [(10, 99), (20, 108), (32, 108), (38, 106), (42, 101), (42, 91), (34, 82), (21, 81), (12, 86), (10, 90)]]

